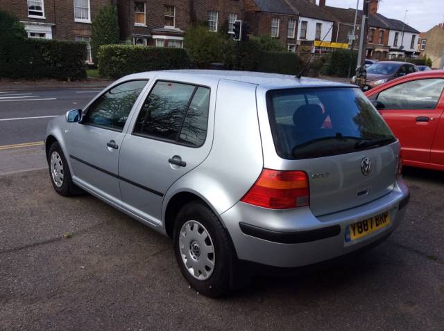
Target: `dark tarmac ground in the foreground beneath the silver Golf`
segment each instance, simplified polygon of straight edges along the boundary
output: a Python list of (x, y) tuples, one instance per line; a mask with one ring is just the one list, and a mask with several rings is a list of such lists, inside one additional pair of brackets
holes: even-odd
[(0, 330), (441, 331), (444, 179), (405, 178), (406, 217), (372, 251), (214, 300), (189, 289), (168, 238), (60, 197), (47, 170), (1, 176)]

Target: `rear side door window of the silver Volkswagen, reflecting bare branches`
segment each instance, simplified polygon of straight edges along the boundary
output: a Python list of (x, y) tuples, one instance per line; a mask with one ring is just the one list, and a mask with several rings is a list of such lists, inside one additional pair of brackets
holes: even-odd
[(210, 89), (158, 81), (137, 116), (133, 134), (198, 147), (207, 135)]

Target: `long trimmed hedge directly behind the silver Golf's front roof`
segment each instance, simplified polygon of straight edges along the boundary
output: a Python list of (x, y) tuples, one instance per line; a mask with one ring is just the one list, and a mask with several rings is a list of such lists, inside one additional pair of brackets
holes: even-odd
[(104, 45), (99, 49), (101, 77), (121, 78), (141, 71), (189, 69), (189, 56), (182, 48)]

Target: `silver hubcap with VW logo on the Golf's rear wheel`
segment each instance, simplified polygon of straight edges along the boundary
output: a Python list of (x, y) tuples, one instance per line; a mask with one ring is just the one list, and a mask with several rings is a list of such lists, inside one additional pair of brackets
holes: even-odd
[(179, 235), (182, 262), (189, 274), (198, 280), (210, 278), (214, 271), (214, 246), (210, 233), (197, 221), (182, 225)]

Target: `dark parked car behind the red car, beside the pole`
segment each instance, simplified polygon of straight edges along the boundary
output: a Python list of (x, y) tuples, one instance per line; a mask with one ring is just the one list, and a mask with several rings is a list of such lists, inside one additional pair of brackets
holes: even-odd
[[(384, 84), (384, 82), (408, 75), (409, 73), (416, 73), (417, 71), (419, 71), (418, 66), (412, 63), (379, 61), (367, 67), (367, 80), (362, 89), (367, 91), (380, 84)], [(354, 78), (352, 78), (352, 83)]]

